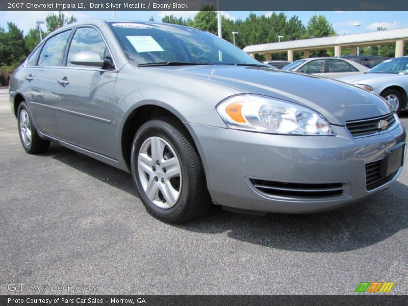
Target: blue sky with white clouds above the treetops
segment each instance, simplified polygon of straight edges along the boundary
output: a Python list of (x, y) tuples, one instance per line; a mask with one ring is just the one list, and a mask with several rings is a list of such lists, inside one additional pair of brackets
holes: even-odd
[[(27, 33), (30, 28), (35, 26), (36, 20), (45, 20), (50, 12), (0, 12), (0, 25), (7, 27), (7, 21), (12, 21)], [(177, 17), (193, 18), (196, 12), (116, 12), (116, 19), (129, 19), (147, 21), (154, 17), (156, 21), (161, 21), (166, 14), (173, 14)], [(233, 20), (238, 18), (245, 19), (250, 12), (223, 12), (226, 17)], [(254, 12), (257, 15), (268, 15), (271, 12)], [(89, 18), (112, 19), (112, 12), (65, 12), (66, 15), (74, 15), (78, 20)], [(328, 21), (333, 24), (335, 31), (340, 34), (357, 33), (353, 23), (360, 22), (360, 33), (375, 31), (377, 27), (386, 27), (387, 29), (408, 28), (407, 12), (285, 12), (288, 17), (298, 15), (304, 25), (307, 25), (310, 17), (314, 14), (326, 16)]]

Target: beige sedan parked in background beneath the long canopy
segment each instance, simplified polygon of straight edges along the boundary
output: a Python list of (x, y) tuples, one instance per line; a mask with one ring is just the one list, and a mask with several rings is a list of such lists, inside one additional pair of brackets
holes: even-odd
[(331, 79), (362, 74), (368, 69), (354, 61), (329, 57), (297, 60), (282, 68), (282, 70), (315, 74)]

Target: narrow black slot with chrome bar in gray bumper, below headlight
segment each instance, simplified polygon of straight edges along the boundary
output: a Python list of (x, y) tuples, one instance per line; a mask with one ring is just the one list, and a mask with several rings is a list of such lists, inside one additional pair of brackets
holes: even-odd
[(262, 193), (277, 196), (332, 197), (343, 194), (342, 183), (287, 183), (260, 179), (249, 179), (253, 187)]

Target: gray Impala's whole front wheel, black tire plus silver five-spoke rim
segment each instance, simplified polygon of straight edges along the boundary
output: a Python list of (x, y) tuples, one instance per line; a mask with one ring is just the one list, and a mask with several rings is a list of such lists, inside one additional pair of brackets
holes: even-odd
[(210, 207), (201, 161), (182, 123), (159, 118), (143, 124), (131, 158), (133, 180), (152, 216), (182, 223)]

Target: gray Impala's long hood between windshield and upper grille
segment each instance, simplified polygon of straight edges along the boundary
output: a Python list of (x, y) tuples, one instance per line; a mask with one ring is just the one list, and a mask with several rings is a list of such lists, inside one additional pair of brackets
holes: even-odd
[(344, 125), (346, 121), (390, 113), (384, 101), (363, 89), (300, 73), (226, 65), (160, 66), (151, 69), (222, 84), (243, 93), (291, 101), (314, 109), (331, 124)]

